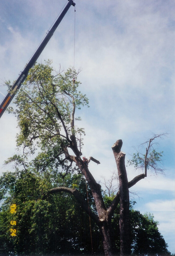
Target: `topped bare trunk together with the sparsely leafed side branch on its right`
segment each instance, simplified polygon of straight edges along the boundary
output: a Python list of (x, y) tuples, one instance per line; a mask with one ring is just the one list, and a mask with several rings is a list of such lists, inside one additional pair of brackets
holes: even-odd
[[(162, 153), (155, 150), (156, 139), (162, 138), (165, 134), (154, 135), (152, 138), (141, 144), (145, 147), (145, 153), (137, 152), (133, 154), (132, 160), (128, 161), (129, 165), (134, 165), (136, 169), (143, 169), (143, 173), (134, 177), (130, 182), (127, 180), (125, 168), (125, 153), (121, 151), (122, 140), (118, 140), (112, 146), (114, 153), (118, 177), (119, 177), (119, 191), (115, 200), (120, 200), (120, 256), (131, 255), (130, 242), (130, 219), (129, 219), (129, 188), (134, 186), (139, 180), (147, 177), (147, 170), (152, 169), (157, 173), (164, 173), (162, 169)], [(120, 199), (119, 199), (120, 198)], [(115, 201), (114, 200), (114, 201)]]

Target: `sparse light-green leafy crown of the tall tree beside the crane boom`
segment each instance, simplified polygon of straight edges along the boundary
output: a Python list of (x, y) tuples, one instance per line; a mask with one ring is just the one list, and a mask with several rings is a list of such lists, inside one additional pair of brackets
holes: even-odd
[[(77, 128), (74, 120), (75, 109), (88, 106), (88, 99), (78, 89), (77, 73), (69, 68), (64, 74), (55, 73), (46, 64), (35, 64), (29, 71), (22, 88), (15, 99), (17, 109), (9, 108), (18, 119), (20, 133), (17, 135), (17, 146), (28, 147), (31, 153), (40, 147), (45, 158), (62, 159), (60, 145), (68, 145), (68, 136), (80, 137), (84, 134), (82, 128)], [(75, 78), (75, 79), (74, 79)]]

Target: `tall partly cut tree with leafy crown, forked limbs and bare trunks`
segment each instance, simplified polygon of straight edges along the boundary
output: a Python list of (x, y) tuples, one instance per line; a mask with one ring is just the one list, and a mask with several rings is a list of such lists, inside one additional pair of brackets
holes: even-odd
[[(88, 165), (81, 159), (84, 130), (75, 125), (75, 122), (80, 120), (80, 117), (75, 115), (75, 110), (88, 105), (88, 99), (78, 91), (79, 85), (74, 69), (68, 69), (62, 75), (60, 72), (53, 72), (50, 62), (46, 65), (36, 64), (16, 95), (17, 109), (13, 110), (11, 107), (9, 110), (17, 116), (20, 127), (17, 145), (23, 145), (24, 154), (34, 154), (40, 148), (40, 152), (32, 162), (34, 168), (40, 172), (52, 169), (53, 172), (62, 173), (64, 170), (64, 175), (67, 175), (78, 169), (86, 177), (94, 198), (95, 211), (88, 207), (87, 201), (82, 198), (76, 188), (59, 186), (49, 189), (46, 194), (64, 192), (76, 198), (83, 210), (98, 226), (106, 256), (112, 255), (111, 220), (120, 202), (121, 256), (130, 255), (129, 188), (146, 174), (138, 175), (130, 182), (127, 181), (125, 154), (120, 151), (122, 141), (118, 140), (112, 146), (112, 150), (118, 167), (120, 188), (109, 207), (106, 208), (101, 186), (90, 173)], [(145, 163), (147, 168), (147, 157)]]

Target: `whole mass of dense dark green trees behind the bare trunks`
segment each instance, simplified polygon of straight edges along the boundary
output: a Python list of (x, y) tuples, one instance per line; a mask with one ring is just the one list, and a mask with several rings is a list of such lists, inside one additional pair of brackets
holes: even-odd
[[(0, 191), (8, 190), (8, 196), (0, 211), (0, 254), (8, 255), (9, 251), (17, 255), (80, 255), (91, 254), (91, 239), (88, 215), (82, 211), (73, 196), (65, 193), (43, 195), (51, 187), (76, 187), (84, 200), (86, 198), (86, 180), (81, 174), (38, 173), (34, 169), (23, 168), (15, 172), (6, 172), (0, 178)], [(4, 191), (5, 193), (5, 191)], [(95, 207), (88, 188), (89, 205)], [(103, 200), (108, 208), (115, 196), (103, 193)], [(17, 206), (13, 220), (16, 221), (17, 236), (10, 236), (10, 205)], [(142, 215), (130, 204), (130, 243), (132, 255), (170, 255), (167, 244), (157, 228), (151, 214)], [(115, 255), (120, 253), (119, 230), (120, 206), (114, 211), (111, 224), (112, 246)], [(102, 255), (102, 244), (99, 228), (91, 221), (93, 250)]]

